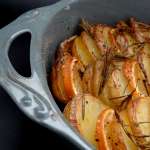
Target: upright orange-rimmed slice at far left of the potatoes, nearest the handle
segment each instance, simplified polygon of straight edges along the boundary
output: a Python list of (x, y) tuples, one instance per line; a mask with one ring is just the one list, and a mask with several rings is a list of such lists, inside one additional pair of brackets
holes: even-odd
[(83, 85), (80, 76), (82, 70), (83, 66), (76, 58), (66, 57), (64, 59), (62, 65), (62, 76), (68, 100), (71, 100), (76, 94), (83, 92)]

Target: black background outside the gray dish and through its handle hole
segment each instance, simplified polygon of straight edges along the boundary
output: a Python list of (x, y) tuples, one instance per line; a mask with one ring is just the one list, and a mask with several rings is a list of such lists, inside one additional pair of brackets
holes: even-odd
[[(58, 0), (0, 0), (0, 28), (22, 13)], [(25, 50), (29, 39), (22, 37), (14, 44), (10, 54), (15, 67), (23, 75), (28, 74), (28, 61)], [(24, 43), (22, 43), (24, 41)], [(19, 49), (22, 49), (20, 53)], [(16, 51), (17, 50), (17, 51)], [(16, 53), (17, 52), (17, 53)], [(12, 56), (13, 55), (13, 56)], [(16, 56), (15, 56), (16, 55)], [(22, 63), (20, 63), (20, 60)], [(0, 150), (73, 150), (75, 148), (63, 137), (49, 131), (28, 119), (13, 103), (7, 93), (0, 88)]]

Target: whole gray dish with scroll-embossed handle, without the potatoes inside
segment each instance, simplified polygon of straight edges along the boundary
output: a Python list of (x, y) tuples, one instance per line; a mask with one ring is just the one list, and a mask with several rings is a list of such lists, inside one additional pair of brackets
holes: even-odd
[[(94, 149), (64, 119), (50, 92), (47, 73), (60, 41), (73, 35), (81, 18), (107, 24), (134, 16), (150, 21), (148, 0), (61, 0), (29, 11), (0, 30), (0, 84), (17, 106), (37, 123), (62, 134), (80, 149)], [(8, 50), (19, 35), (32, 35), (32, 76), (25, 78), (12, 67)]]

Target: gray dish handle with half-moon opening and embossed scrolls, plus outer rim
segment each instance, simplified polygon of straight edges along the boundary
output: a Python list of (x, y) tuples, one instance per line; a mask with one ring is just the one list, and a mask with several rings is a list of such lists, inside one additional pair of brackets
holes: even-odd
[[(44, 22), (47, 21), (46, 15), (54, 15), (59, 9), (65, 7), (67, 3), (68, 0), (63, 0), (53, 6), (27, 12), (0, 30), (0, 84), (12, 97), (20, 110), (29, 118), (61, 133), (80, 149), (91, 150), (94, 148), (84, 141), (67, 123), (55, 102), (50, 100), (53, 97), (44, 90), (42, 79), (32, 66), (32, 61), (32, 76), (25, 78), (16, 72), (8, 58), (9, 47), (16, 37), (25, 32), (30, 32), (33, 35), (31, 39), (32, 47), (33, 43), (38, 43), (34, 33), (40, 33), (40, 30), (46, 25), (46, 22)], [(51, 11), (49, 11), (50, 9)], [(43, 24), (37, 25), (36, 23), (40, 21), (38, 19), (43, 19)], [(37, 29), (38, 31), (36, 31)]]

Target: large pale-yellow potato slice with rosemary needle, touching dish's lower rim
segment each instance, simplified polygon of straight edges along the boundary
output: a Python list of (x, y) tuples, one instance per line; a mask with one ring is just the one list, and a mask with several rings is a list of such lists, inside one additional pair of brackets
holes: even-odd
[(105, 108), (99, 99), (90, 94), (80, 94), (67, 104), (64, 115), (89, 143), (97, 147), (96, 121)]

